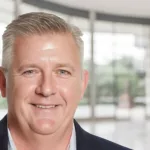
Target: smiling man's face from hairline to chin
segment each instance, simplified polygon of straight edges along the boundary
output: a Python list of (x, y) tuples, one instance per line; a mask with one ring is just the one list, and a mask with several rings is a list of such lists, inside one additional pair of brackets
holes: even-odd
[(8, 116), (36, 133), (54, 133), (72, 120), (87, 76), (70, 34), (16, 38), (6, 84)]

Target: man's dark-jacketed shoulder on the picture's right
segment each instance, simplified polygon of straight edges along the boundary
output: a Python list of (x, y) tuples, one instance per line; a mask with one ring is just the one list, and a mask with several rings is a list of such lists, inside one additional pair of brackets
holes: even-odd
[(82, 149), (86, 148), (87, 150), (131, 150), (129, 148), (123, 147), (119, 144), (86, 132), (80, 127), (80, 125), (76, 121), (75, 128), (77, 136), (77, 146), (79, 144)]

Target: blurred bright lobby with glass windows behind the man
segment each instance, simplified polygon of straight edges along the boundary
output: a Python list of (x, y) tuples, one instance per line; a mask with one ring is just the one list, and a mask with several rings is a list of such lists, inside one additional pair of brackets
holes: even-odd
[[(80, 125), (132, 149), (150, 149), (150, 1), (1, 0), (0, 59), (6, 25), (33, 11), (54, 13), (84, 34), (90, 81), (75, 114)], [(7, 103), (0, 99), (2, 118)]]

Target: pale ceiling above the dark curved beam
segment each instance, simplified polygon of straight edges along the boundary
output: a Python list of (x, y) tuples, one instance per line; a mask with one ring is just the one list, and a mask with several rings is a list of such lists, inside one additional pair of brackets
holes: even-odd
[(150, 0), (45, 0), (97, 12), (150, 18)]

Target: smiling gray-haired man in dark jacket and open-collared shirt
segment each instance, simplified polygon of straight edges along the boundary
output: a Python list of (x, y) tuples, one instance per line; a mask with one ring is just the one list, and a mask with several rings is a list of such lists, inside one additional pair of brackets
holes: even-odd
[(0, 150), (128, 150), (73, 120), (88, 83), (77, 27), (47, 13), (12, 21), (3, 35), (0, 89), (8, 114)]

